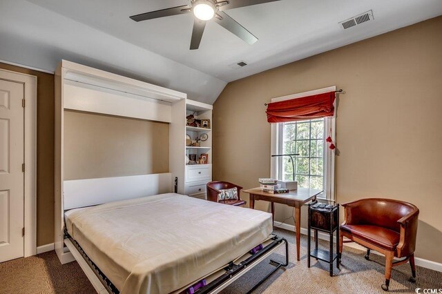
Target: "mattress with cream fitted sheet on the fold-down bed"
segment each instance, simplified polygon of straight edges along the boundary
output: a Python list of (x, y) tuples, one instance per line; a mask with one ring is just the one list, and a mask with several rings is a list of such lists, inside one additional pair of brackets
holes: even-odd
[(65, 213), (66, 228), (121, 293), (170, 293), (262, 243), (271, 214), (168, 193)]

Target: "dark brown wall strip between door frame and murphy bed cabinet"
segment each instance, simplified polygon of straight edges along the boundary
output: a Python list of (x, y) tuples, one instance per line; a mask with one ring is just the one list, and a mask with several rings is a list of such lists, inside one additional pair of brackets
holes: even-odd
[(0, 63), (37, 76), (37, 246), (54, 242), (54, 75)]

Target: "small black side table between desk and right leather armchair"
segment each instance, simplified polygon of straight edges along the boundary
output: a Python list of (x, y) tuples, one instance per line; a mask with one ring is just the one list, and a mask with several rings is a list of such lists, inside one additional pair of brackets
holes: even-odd
[[(307, 267), (310, 267), (310, 257), (315, 257), (323, 262), (328, 262), (330, 265), (330, 277), (333, 277), (333, 262), (336, 259), (336, 267), (339, 268), (340, 256), (338, 252), (339, 239), (339, 204), (334, 206), (318, 207), (317, 202), (309, 204), (308, 211), (308, 238), (307, 238)], [(323, 204), (325, 205), (325, 204)], [(315, 234), (315, 248), (310, 251), (311, 230)], [(318, 248), (318, 231), (329, 234), (330, 247), (329, 251)], [(333, 253), (333, 234), (336, 231), (336, 253)]]

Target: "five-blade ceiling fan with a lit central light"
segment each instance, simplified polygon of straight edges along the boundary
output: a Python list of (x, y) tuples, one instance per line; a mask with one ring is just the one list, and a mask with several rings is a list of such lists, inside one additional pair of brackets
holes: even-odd
[(193, 12), (195, 21), (193, 21), (191, 50), (198, 49), (202, 38), (202, 33), (206, 27), (206, 21), (213, 19), (215, 23), (229, 30), (240, 39), (249, 44), (258, 41), (258, 38), (253, 36), (246, 28), (241, 26), (234, 19), (229, 17), (224, 10), (239, 8), (244, 6), (252, 6), (261, 3), (280, 1), (280, 0), (191, 0), (190, 5), (177, 6), (173, 8), (166, 8), (162, 10), (155, 10), (142, 14), (133, 15), (131, 19), (134, 21), (146, 21), (148, 19), (157, 19), (159, 17), (170, 17), (171, 15), (184, 14)]

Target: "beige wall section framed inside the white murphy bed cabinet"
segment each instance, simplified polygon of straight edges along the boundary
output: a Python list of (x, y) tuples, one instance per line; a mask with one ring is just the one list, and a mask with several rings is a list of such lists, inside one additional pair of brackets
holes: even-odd
[(169, 124), (64, 112), (64, 179), (169, 171)]

